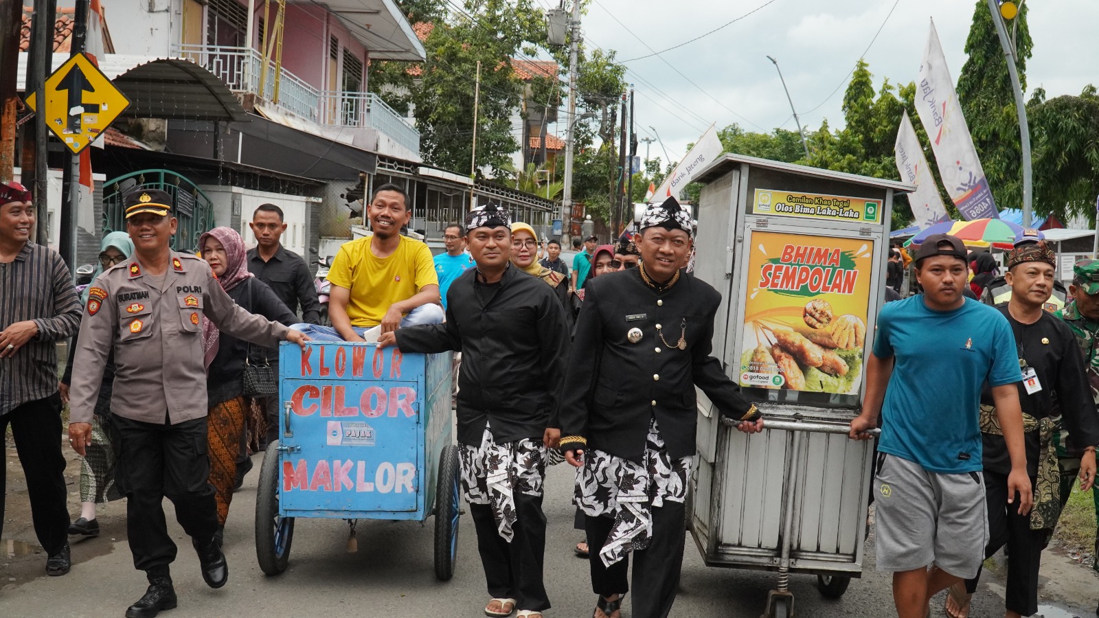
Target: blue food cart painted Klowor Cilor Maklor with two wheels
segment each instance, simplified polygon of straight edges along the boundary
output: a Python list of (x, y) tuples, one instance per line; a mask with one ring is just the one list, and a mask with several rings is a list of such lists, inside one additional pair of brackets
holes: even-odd
[(452, 354), (374, 343), (279, 346), (279, 440), (256, 496), (256, 558), (286, 570), (298, 518), (424, 521), (435, 516), (435, 575), (454, 575), (458, 451)]

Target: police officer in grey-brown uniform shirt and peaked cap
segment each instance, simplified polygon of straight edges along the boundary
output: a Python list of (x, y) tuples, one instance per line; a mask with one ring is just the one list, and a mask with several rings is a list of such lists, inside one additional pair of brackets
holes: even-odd
[(229, 569), (220, 545), (213, 488), (207, 484), (206, 366), (203, 320), (258, 345), (308, 339), (236, 306), (210, 266), (169, 247), (178, 222), (171, 197), (135, 190), (125, 201), (130, 260), (100, 275), (88, 289), (70, 387), (69, 442), (81, 455), (91, 441), (92, 410), (103, 366), (113, 349), (116, 372), (111, 410), (119, 444), (116, 482), (127, 498), (126, 526), (134, 566), (149, 587), (127, 618), (156, 616), (176, 607), (168, 565), (176, 545), (168, 536), (163, 498), (191, 537), (202, 578), (225, 585)]

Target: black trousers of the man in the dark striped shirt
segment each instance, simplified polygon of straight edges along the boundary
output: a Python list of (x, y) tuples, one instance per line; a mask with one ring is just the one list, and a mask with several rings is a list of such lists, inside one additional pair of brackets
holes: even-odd
[[(62, 398), (54, 394), (27, 401), (0, 416), (0, 453), (8, 448), (8, 426), (15, 441), (19, 463), (26, 477), (34, 533), (47, 555), (68, 542), (68, 506), (65, 489), (65, 457), (62, 455)], [(0, 536), (3, 534), (4, 493), (8, 466), (0, 465)]]

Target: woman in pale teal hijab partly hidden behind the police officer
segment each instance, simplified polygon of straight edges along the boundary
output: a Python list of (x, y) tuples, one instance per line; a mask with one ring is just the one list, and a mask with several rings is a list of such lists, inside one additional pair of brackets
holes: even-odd
[[(99, 244), (99, 264), (91, 275), (95, 282), (99, 275), (115, 264), (125, 262), (134, 251), (134, 243), (125, 232), (111, 232), (103, 236)], [(80, 302), (88, 304), (88, 286), (80, 294)], [(73, 357), (76, 354), (77, 335), (69, 343), (68, 362), (65, 374), (58, 385), (62, 400), (68, 402), (68, 388), (73, 382)], [(69, 525), (69, 534), (84, 537), (99, 536), (99, 521), (96, 519), (96, 505), (122, 497), (122, 492), (114, 484), (114, 462), (116, 460), (114, 445), (111, 443), (111, 391), (114, 386), (114, 354), (107, 357), (103, 369), (103, 382), (99, 387), (99, 398), (96, 399), (95, 416), (91, 418), (91, 444), (80, 459), (80, 517)]]

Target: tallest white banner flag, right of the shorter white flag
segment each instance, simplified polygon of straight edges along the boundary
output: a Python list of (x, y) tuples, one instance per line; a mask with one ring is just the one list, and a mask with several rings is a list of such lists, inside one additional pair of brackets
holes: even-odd
[(985, 217), (999, 219), (933, 21), (917, 80), (915, 109), (931, 140), (943, 186), (958, 212), (970, 221)]

